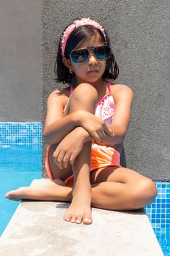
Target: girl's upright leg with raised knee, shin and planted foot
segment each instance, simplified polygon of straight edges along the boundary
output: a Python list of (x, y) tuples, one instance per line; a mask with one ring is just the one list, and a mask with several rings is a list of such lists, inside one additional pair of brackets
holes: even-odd
[[(89, 84), (80, 84), (72, 93), (69, 101), (69, 113), (76, 110), (95, 112), (98, 99), (96, 89)], [(91, 187), (90, 187), (90, 154), (91, 141), (84, 144), (82, 151), (73, 164), (74, 186), (72, 191), (72, 203), (66, 211), (64, 219), (71, 222), (90, 224), (92, 216), (90, 211)]]

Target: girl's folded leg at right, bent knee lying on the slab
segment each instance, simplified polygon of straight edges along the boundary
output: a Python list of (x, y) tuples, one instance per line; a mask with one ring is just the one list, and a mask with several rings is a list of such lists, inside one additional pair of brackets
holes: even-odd
[[(152, 203), (158, 194), (158, 189), (150, 178), (124, 167), (111, 166), (94, 170), (90, 173), (90, 182), (96, 184), (93, 186), (93, 206), (98, 208), (142, 208)], [(101, 197), (98, 197), (102, 192), (98, 194), (97, 187), (101, 187), (101, 191), (104, 192), (102, 197), (106, 197), (102, 206)]]

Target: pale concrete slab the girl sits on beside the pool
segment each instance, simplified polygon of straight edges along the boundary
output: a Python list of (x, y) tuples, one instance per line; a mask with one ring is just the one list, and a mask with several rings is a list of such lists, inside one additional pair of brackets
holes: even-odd
[[(39, 184), (34, 180), (32, 184)], [(92, 208), (93, 224), (63, 221), (69, 203), (23, 200), (0, 238), (1, 256), (161, 256), (143, 209)]]

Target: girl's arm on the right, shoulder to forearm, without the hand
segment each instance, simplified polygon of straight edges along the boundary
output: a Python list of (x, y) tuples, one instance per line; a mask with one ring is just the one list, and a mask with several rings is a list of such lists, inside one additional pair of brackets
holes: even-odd
[[(106, 133), (102, 144), (106, 146), (114, 146), (123, 143), (125, 133), (128, 129), (128, 124), (131, 119), (131, 107), (134, 100), (133, 91), (125, 85), (120, 85), (114, 91), (115, 99), (115, 116), (112, 124), (107, 124), (107, 127), (112, 130), (114, 136)], [(93, 137), (82, 127), (79, 127), (82, 132), (83, 141), (94, 140)]]

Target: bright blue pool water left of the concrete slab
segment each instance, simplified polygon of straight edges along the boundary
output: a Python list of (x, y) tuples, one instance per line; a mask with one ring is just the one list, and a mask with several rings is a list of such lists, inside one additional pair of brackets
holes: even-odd
[(31, 184), (41, 178), (42, 151), (40, 147), (0, 147), (0, 235), (3, 233), (20, 202), (7, 200), (5, 194), (12, 189)]

